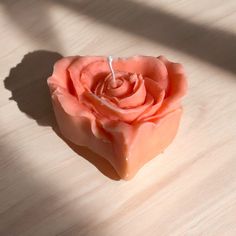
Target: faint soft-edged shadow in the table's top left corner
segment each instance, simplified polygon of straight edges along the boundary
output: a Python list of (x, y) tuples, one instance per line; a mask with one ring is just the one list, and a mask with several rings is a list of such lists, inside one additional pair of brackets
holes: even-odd
[(34, 43), (61, 50), (63, 45), (54, 27), (50, 2), (28, 0), (1, 0), (1, 10), (17, 31), (27, 35)]

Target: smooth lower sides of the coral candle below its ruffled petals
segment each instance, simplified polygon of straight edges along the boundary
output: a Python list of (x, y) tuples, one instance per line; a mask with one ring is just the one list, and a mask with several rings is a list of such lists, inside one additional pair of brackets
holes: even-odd
[(156, 123), (145, 122), (134, 126), (111, 123), (110, 127), (106, 127), (113, 136), (113, 142), (109, 142), (105, 137), (94, 135), (89, 120), (78, 121), (68, 115), (57, 100), (53, 101), (53, 107), (64, 137), (106, 159), (124, 180), (132, 179), (145, 163), (167, 148), (177, 133), (182, 114), (179, 108)]

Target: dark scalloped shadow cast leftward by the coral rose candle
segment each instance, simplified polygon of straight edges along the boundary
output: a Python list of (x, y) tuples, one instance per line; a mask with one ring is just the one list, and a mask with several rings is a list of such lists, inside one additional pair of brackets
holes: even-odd
[(61, 57), (56, 52), (43, 50), (25, 55), (4, 80), (5, 88), (12, 93), (10, 99), (16, 101), (19, 109), (39, 125), (52, 127), (73, 151), (96, 166), (105, 176), (119, 180), (114, 168), (105, 159), (66, 140), (56, 125), (46, 80), (52, 73), (54, 63)]

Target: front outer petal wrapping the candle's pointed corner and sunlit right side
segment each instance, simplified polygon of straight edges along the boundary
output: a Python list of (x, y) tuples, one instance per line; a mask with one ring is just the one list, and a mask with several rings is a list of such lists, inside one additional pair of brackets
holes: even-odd
[(103, 125), (113, 138), (113, 166), (121, 178), (131, 179), (145, 163), (166, 149), (177, 133), (181, 113), (182, 109), (177, 109), (157, 123)]

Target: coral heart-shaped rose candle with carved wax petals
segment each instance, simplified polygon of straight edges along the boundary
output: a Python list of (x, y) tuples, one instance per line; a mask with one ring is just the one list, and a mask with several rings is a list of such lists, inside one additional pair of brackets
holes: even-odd
[(181, 64), (163, 56), (65, 57), (48, 85), (61, 133), (108, 160), (123, 179), (171, 143), (187, 83)]

